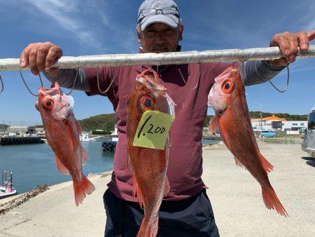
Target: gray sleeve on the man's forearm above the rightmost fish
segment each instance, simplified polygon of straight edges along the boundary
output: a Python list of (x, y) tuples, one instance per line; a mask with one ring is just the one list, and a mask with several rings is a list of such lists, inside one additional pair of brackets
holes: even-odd
[(265, 60), (246, 61), (239, 65), (241, 78), (245, 86), (256, 85), (269, 81), (286, 67), (274, 67)]

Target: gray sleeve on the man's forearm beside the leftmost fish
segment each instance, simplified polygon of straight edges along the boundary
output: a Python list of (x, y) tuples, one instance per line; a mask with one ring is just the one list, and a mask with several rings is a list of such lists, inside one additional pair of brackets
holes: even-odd
[[(77, 72), (78, 75), (76, 76)], [(83, 90), (85, 92), (90, 92), (90, 86), (87, 81), (85, 72), (82, 68), (60, 69), (56, 76), (50, 76), (48, 72), (44, 72), (43, 74), (49, 81), (57, 81), (59, 83), (59, 86), (65, 88), (73, 88), (74, 90)]]

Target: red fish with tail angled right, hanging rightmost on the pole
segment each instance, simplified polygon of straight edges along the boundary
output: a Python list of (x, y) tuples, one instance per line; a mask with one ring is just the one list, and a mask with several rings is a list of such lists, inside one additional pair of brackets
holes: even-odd
[(235, 156), (236, 165), (246, 168), (258, 181), (266, 208), (288, 217), (267, 175), (274, 167), (262, 156), (255, 140), (239, 69), (230, 66), (214, 80), (208, 96), (208, 105), (215, 111), (209, 122), (209, 133), (218, 130)]

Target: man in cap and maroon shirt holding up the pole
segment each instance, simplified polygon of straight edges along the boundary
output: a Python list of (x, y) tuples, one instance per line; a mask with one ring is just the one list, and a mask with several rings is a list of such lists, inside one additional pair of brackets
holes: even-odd
[[(142, 46), (140, 53), (181, 50), (179, 41), (183, 39), (183, 25), (176, 3), (172, 0), (144, 1), (139, 8), (137, 34)], [(269, 62), (245, 62), (244, 68), (241, 68), (244, 83), (251, 85), (272, 79), (295, 60), (297, 47), (307, 50), (309, 41), (314, 37), (315, 31), (309, 35), (306, 32), (274, 35), (270, 46), (279, 46), (283, 58)], [(45, 72), (45, 68), (51, 67), (61, 56), (61, 48), (53, 43), (31, 43), (22, 51), (20, 65), (29, 65), (36, 75)], [(176, 118), (170, 130), (172, 147), (167, 170), (171, 189), (160, 208), (158, 236), (219, 236), (205, 191), (207, 187), (201, 179), (201, 140), (204, 118), (207, 116), (207, 96), (214, 78), (229, 66), (228, 63), (205, 63), (79, 69), (80, 79), (74, 88), (84, 90), (88, 95), (109, 97), (118, 116), (119, 141), (112, 180), (104, 194), (107, 217), (105, 236), (136, 236), (143, 218), (137, 198), (132, 196), (132, 172), (127, 164), (126, 100), (134, 88), (137, 74), (149, 68), (158, 72), (167, 93), (176, 104)], [(50, 81), (57, 80), (61, 86), (71, 88), (76, 69), (48, 69), (45, 75)], [(107, 88), (109, 90), (105, 93)]]

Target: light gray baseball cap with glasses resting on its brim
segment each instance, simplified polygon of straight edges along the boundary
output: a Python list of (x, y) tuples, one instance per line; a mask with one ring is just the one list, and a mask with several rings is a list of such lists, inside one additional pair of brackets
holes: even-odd
[(138, 12), (138, 24), (141, 25), (141, 30), (155, 22), (177, 27), (179, 18), (179, 8), (172, 0), (145, 0)]

